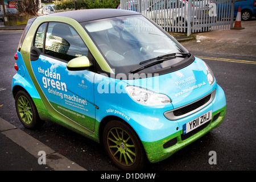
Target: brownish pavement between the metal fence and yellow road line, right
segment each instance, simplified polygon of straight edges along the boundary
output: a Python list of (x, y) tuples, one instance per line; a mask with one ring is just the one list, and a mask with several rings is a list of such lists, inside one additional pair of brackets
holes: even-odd
[(205, 52), (223, 57), (229, 55), (251, 57), (250, 59), (255, 60), (256, 18), (250, 21), (242, 21), (241, 25), (244, 28), (242, 30), (199, 32), (193, 33), (192, 36), (195, 38), (189, 41), (180, 42), (179, 39), (177, 40), (195, 56), (199, 52)]

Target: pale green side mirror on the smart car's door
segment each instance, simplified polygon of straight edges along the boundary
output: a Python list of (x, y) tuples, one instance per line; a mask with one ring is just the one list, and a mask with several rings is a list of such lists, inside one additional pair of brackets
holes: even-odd
[(89, 68), (91, 66), (88, 57), (80, 56), (70, 60), (67, 64), (69, 71), (81, 71)]

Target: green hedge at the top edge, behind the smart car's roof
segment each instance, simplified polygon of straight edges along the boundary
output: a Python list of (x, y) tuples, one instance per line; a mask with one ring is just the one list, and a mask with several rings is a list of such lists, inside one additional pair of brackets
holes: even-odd
[[(75, 9), (75, 0), (53, 1), (56, 5), (56, 10)], [(77, 0), (77, 9), (116, 9), (119, 5), (119, 0)]]

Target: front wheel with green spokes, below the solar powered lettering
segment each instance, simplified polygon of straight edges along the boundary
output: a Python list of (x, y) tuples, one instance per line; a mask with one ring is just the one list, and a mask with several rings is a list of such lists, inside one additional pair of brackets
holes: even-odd
[(140, 170), (144, 167), (144, 148), (130, 126), (121, 121), (110, 121), (103, 133), (106, 152), (113, 163), (126, 171)]

